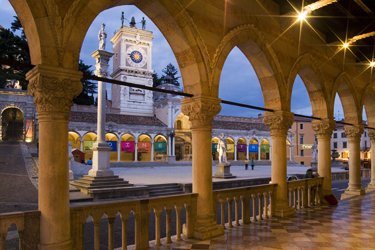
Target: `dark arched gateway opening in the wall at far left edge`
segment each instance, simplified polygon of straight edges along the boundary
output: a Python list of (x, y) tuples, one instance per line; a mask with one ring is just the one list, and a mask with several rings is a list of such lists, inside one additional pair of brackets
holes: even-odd
[(1, 136), (4, 141), (23, 140), (23, 113), (18, 108), (7, 108), (1, 113)]

